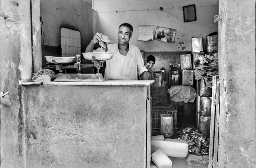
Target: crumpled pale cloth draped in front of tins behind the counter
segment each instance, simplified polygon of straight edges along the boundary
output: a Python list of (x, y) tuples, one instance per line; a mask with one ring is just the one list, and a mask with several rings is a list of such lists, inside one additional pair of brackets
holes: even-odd
[(196, 90), (191, 86), (172, 86), (168, 92), (170, 94), (170, 100), (174, 102), (184, 101), (185, 103), (193, 103), (196, 99)]

